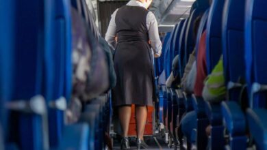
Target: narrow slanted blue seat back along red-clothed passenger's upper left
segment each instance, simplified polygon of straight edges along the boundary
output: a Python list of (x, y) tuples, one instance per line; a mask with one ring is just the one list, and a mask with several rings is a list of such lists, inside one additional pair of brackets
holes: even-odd
[(203, 16), (201, 18), (201, 22), (199, 23), (199, 30), (198, 30), (197, 35), (196, 35), (196, 56), (197, 56), (197, 53), (199, 50), (199, 41), (201, 39), (201, 35), (202, 35), (203, 31), (205, 31), (205, 29), (206, 29), (208, 16), (209, 16), (209, 9), (207, 9), (205, 11), (205, 13), (203, 14)]

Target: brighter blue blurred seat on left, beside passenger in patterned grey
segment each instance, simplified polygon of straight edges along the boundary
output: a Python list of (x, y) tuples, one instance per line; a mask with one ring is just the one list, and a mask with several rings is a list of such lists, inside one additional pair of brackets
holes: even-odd
[(45, 1), (44, 97), (49, 103), (49, 142), (58, 147), (71, 98), (71, 10), (67, 0)]

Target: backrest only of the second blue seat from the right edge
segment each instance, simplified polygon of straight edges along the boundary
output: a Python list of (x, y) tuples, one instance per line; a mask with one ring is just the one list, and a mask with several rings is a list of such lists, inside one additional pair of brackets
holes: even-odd
[(238, 82), (245, 77), (244, 0), (225, 0), (223, 11), (223, 63), (225, 80)]

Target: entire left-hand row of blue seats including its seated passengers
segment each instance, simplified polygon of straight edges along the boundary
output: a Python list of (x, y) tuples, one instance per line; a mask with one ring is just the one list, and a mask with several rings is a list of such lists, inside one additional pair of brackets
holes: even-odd
[(86, 1), (25, 2), (0, 1), (0, 149), (104, 149), (112, 50)]

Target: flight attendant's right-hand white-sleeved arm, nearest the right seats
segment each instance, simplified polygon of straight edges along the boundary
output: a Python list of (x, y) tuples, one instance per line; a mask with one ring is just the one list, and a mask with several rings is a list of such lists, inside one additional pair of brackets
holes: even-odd
[(160, 57), (162, 54), (162, 42), (160, 41), (157, 20), (152, 12), (147, 14), (147, 29), (149, 30), (149, 40), (155, 53), (155, 57)]

